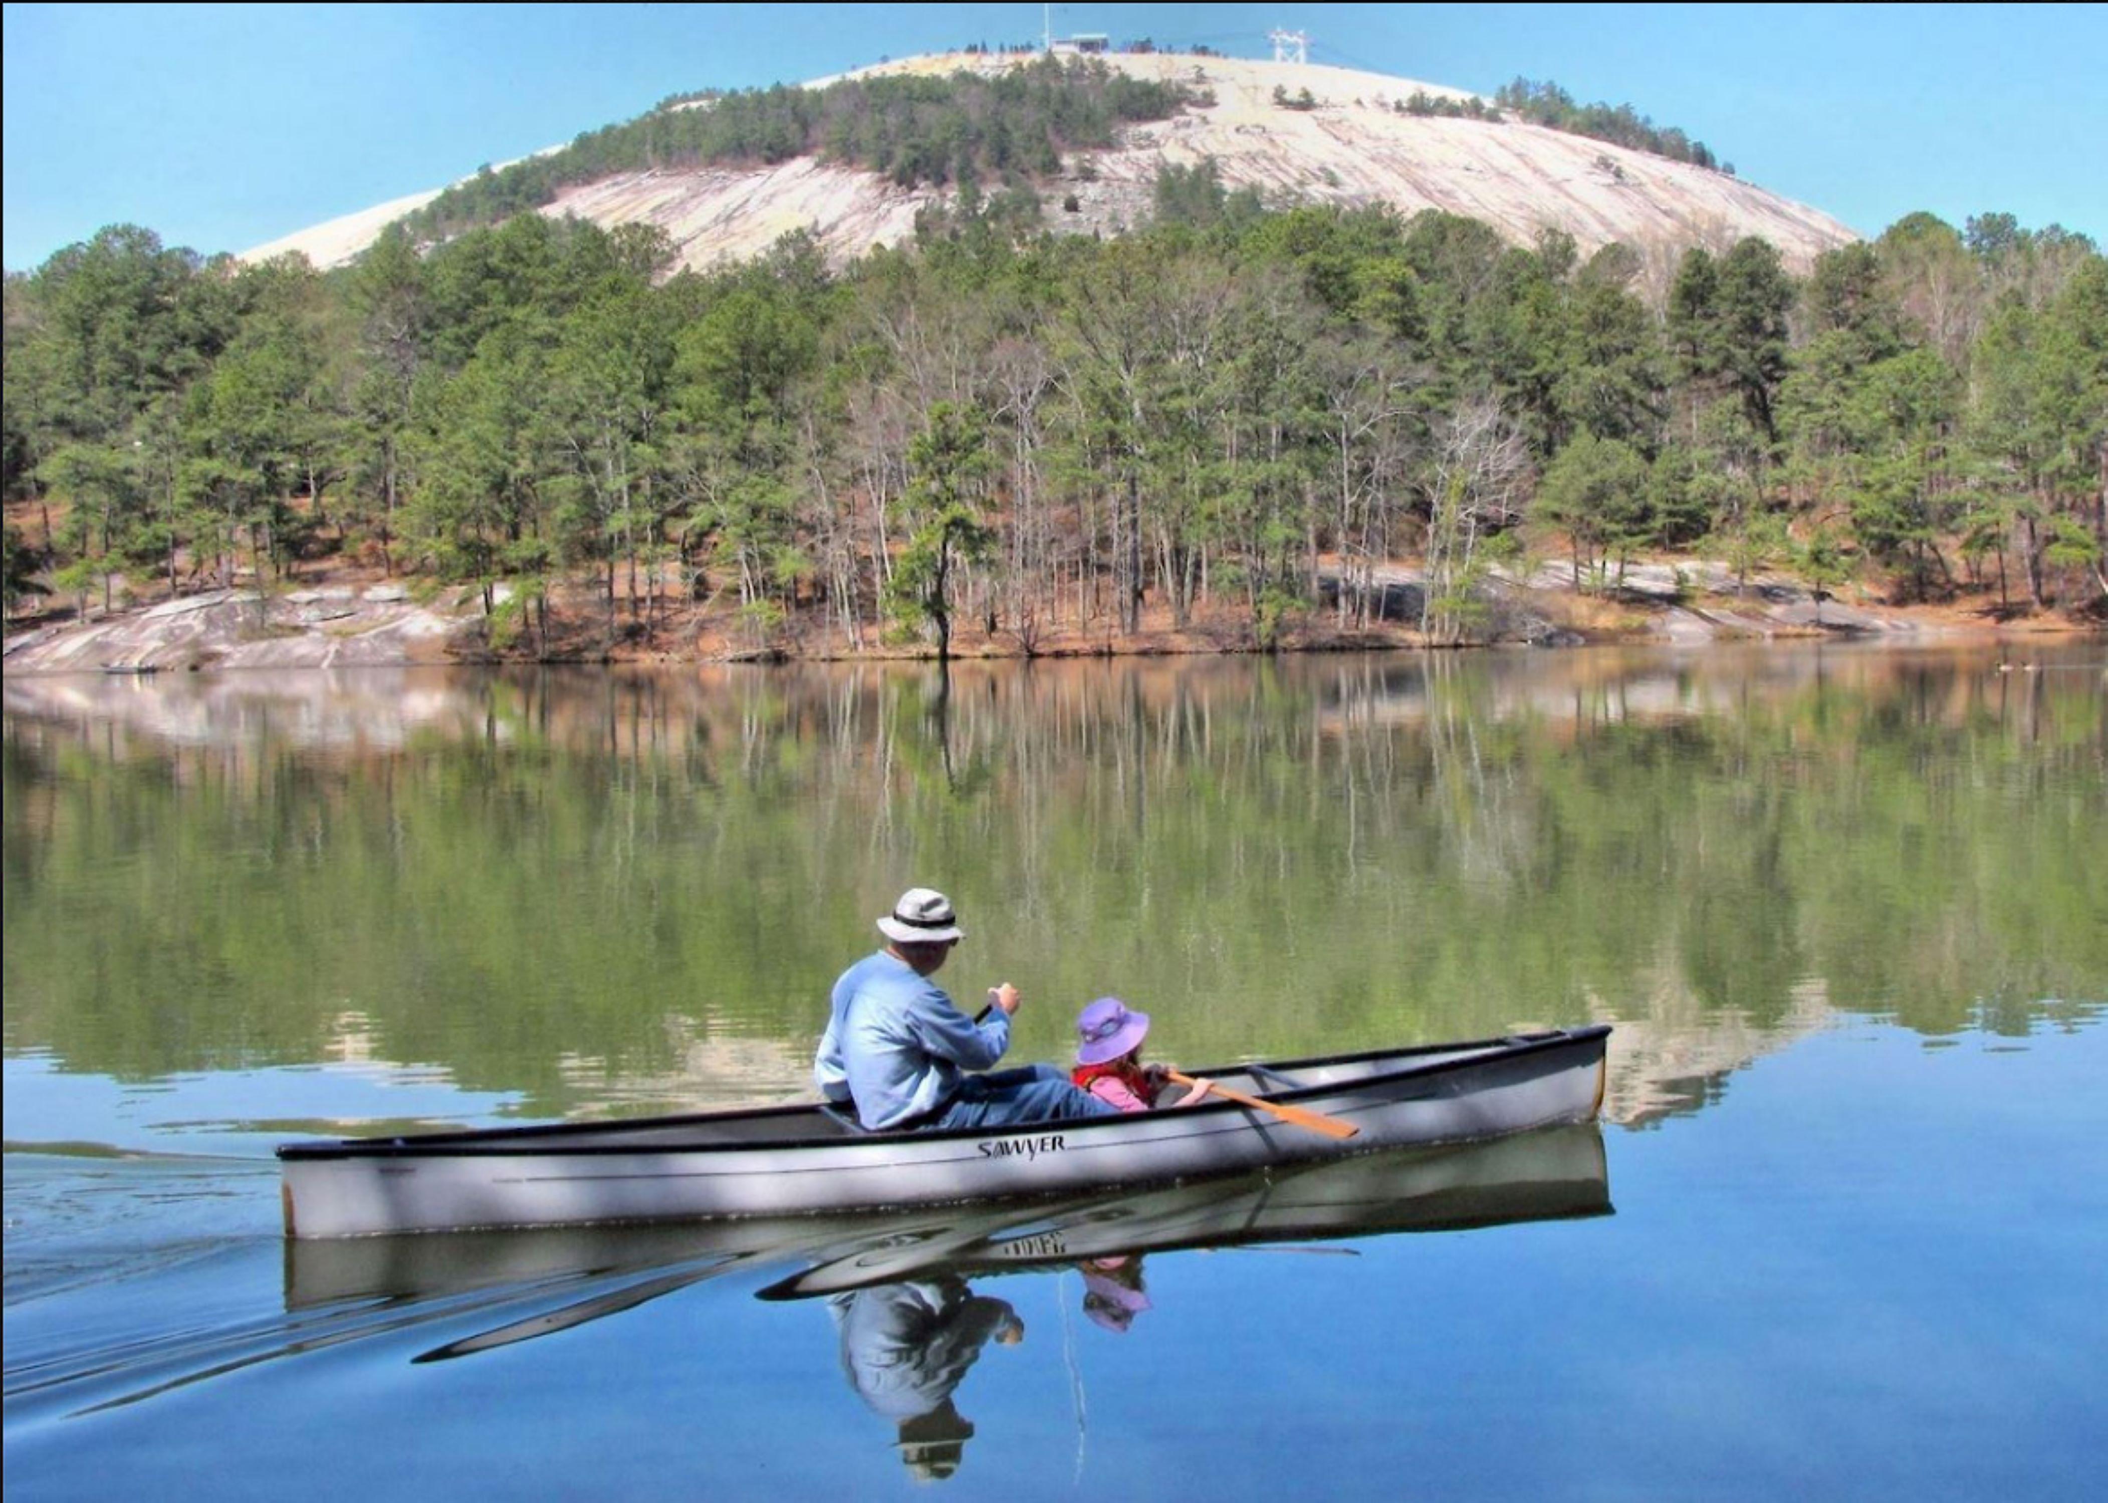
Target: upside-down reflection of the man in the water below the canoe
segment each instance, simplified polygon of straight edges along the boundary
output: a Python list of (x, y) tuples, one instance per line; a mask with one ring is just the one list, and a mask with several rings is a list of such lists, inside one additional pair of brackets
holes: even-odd
[(1024, 1341), (1018, 1313), (951, 1273), (837, 1294), (828, 1309), (841, 1370), (873, 1414), (900, 1427), (900, 1461), (921, 1480), (957, 1471), (974, 1425), (951, 1391), (989, 1336), (1006, 1347)]

